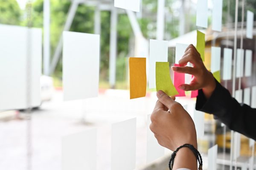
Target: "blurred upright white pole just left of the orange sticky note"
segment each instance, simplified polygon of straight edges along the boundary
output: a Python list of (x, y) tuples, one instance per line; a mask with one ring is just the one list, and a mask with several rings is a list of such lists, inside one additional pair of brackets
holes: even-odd
[(117, 43), (117, 10), (115, 7), (111, 10), (110, 21), (110, 49), (109, 49), (109, 84), (111, 88), (116, 85), (116, 43)]

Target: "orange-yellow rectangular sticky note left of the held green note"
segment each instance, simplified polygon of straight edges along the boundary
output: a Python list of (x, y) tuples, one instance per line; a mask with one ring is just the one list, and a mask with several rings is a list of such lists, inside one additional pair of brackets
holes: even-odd
[(129, 58), (130, 99), (146, 96), (146, 58)]

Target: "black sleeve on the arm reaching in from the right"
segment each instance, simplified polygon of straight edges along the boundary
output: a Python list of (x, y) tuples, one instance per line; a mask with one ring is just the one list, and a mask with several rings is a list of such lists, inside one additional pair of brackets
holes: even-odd
[(213, 114), (231, 130), (256, 140), (256, 109), (237, 102), (218, 81), (209, 99), (202, 90), (198, 91), (195, 108)]

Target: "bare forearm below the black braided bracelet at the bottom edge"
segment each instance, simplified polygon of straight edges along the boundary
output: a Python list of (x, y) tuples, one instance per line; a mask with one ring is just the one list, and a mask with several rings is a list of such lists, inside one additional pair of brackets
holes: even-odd
[(173, 170), (177, 170), (179, 168), (187, 168), (190, 170), (197, 170), (197, 159), (192, 152), (187, 147), (181, 148), (177, 155), (175, 156), (174, 164), (173, 164)]

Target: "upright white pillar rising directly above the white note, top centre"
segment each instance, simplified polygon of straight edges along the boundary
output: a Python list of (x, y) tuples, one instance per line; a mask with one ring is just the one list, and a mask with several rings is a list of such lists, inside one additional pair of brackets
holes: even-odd
[(165, 0), (157, 1), (157, 40), (163, 40)]

